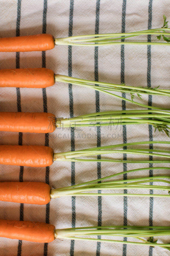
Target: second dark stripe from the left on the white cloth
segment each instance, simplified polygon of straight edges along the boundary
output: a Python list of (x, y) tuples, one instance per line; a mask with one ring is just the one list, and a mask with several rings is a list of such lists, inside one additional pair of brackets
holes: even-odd
[[(43, 17), (42, 17), (42, 34), (46, 33), (47, 29), (47, 0), (44, 0), (43, 5)], [(42, 68), (46, 68), (46, 52), (42, 52)], [(45, 113), (48, 112), (47, 109), (47, 92), (46, 88), (42, 88), (42, 98), (43, 98), (43, 110)], [(48, 133), (45, 133), (45, 146), (49, 146)], [(45, 182), (49, 184), (49, 166), (46, 167)], [(50, 203), (46, 204), (46, 223), (49, 224), (49, 214), (50, 214)], [(48, 243), (44, 243), (44, 256), (48, 255)]]

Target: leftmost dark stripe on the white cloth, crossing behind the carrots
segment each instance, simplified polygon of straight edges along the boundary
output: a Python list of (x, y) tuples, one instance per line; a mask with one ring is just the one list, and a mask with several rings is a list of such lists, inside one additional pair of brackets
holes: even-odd
[[(21, 20), (21, 0), (17, 3), (17, 22), (16, 22), (16, 36), (20, 36), (20, 20)], [(16, 68), (19, 68), (19, 52), (16, 52)], [(17, 111), (21, 112), (21, 94), (20, 88), (16, 88), (17, 92)], [(22, 132), (19, 132), (18, 145), (22, 146)], [(24, 166), (20, 166), (19, 181), (23, 182)], [(24, 204), (20, 204), (19, 209), (19, 220), (24, 220)], [(22, 252), (22, 240), (18, 241), (18, 252), (17, 256), (21, 256)]]

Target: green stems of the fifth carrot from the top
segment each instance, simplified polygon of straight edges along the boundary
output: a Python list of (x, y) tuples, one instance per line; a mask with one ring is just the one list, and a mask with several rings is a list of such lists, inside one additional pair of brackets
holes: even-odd
[[(91, 180), (84, 183), (80, 183), (77, 185), (72, 185), (69, 187), (64, 188), (55, 188), (52, 189), (50, 192), (51, 198), (61, 197), (61, 196), (98, 196), (98, 193), (84, 193), (89, 191), (96, 191), (96, 190), (122, 190), (122, 189), (154, 189), (154, 190), (167, 190), (170, 191), (170, 186), (160, 186), (160, 185), (144, 185), (143, 183), (149, 182), (163, 182), (170, 184), (170, 181), (164, 179), (170, 179), (170, 176), (155, 176), (155, 177), (144, 177), (144, 178), (133, 178), (126, 180), (112, 180), (107, 182), (99, 183), (99, 181), (107, 180), (113, 178), (115, 176), (123, 175), (125, 173), (137, 172), (137, 171), (144, 171), (150, 170), (151, 167), (148, 168), (138, 168), (134, 170), (129, 170), (125, 172), (119, 172), (116, 174), (112, 174), (110, 176), (106, 176), (104, 178), (100, 178), (97, 180)], [(169, 167), (154, 167), (152, 169), (158, 170), (170, 170)], [(112, 194), (112, 193), (102, 193), (101, 196), (124, 196), (124, 194)], [(146, 196), (150, 197), (150, 194), (126, 194), (126, 196)], [(153, 197), (170, 197), (170, 195), (160, 195), (160, 194), (153, 194)]]

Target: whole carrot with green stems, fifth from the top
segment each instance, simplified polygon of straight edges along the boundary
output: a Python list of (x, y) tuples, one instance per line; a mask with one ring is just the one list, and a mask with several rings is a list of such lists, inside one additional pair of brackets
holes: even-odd
[[(149, 170), (151, 167), (147, 168), (138, 168), (134, 170), (126, 171), (125, 173), (130, 172), (138, 172)], [(152, 170), (165, 169), (170, 170), (170, 167), (153, 167)], [(154, 177), (142, 177), (142, 178), (133, 178), (127, 179), (126, 184), (124, 184), (124, 180), (111, 180), (109, 181), (108, 188), (108, 180), (110, 178), (114, 178), (115, 176), (122, 175), (123, 172), (118, 172), (116, 174), (112, 174), (97, 180), (90, 180), (84, 183), (75, 184), (72, 186), (64, 187), (64, 188), (54, 188), (51, 189), (50, 186), (43, 182), (1, 182), (0, 183), (0, 201), (5, 202), (14, 202), (14, 203), (24, 203), (24, 204), (48, 204), (51, 198), (55, 199), (61, 196), (98, 196), (98, 193), (94, 193), (96, 190), (102, 190), (101, 196), (124, 196), (122, 193), (116, 193), (116, 190), (123, 189), (149, 189), (152, 188), (154, 190), (170, 190), (170, 176), (154, 176)], [(165, 180), (164, 180), (165, 179)], [(168, 183), (168, 186), (163, 185), (154, 185), (154, 187), (150, 185), (142, 185), (144, 183), (149, 183), (150, 181), (156, 182), (164, 182)], [(102, 181), (102, 183), (100, 183)], [(122, 185), (121, 185), (122, 184)], [(114, 193), (105, 193), (105, 190), (115, 190)], [(90, 191), (94, 191), (91, 193)], [(88, 193), (86, 193), (88, 192)], [(90, 193), (89, 193), (90, 192)], [(126, 196), (145, 196), (150, 197), (150, 194), (142, 194), (142, 193), (132, 193), (127, 194)], [(169, 197), (169, 194), (162, 195), (161, 193), (153, 195), (154, 197)]]

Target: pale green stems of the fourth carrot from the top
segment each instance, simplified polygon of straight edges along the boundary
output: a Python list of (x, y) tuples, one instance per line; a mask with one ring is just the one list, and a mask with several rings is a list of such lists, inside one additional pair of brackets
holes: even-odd
[[(152, 141), (153, 144), (170, 144), (170, 141)], [(143, 144), (151, 144), (151, 141), (140, 141), (140, 142), (131, 142), (131, 143), (123, 143), (116, 145), (109, 145), (100, 148), (87, 148), (77, 151), (69, 151), (63, 153), (54, 153), (53, 160), (54, 161), (71, 161), (71, 162), (115, 162), (115, 163), (170, 163), (170, 159), (168, 160), (118, 160), (118, 159), (77, 159), (77, 157), (83, 156), (95, 156), (95, 155), (103, 155), (103, 154), (113, 154), (113, 153), (123, 153), (123, 154), (134, 154), (134, 155), (145, 155), (145, 156), (159, 156), (170, 158), (169, 150), (162, 149), (116, 149), (116, 150), (108, 150), (108, 148), (119, 148), (119, 147), (127, 147), (133, 145), (143, 145)], [(156, 153), (147, 153), (147, 152), (156, 152)], [(161, 154), (157, 154), (161, 153)]]

